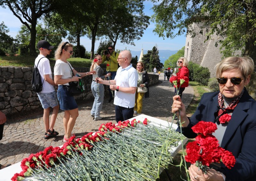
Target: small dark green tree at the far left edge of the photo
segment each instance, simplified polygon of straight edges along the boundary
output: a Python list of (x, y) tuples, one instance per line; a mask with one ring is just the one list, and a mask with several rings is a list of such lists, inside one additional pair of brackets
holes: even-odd
[(7, 34), (8, 32), (9, 29), (7, 29), (7, 26), (2, 22), (0, 24), (0, 49), (4, 51), (6, 51), (8, 47), (11, 47), (14, 41), (14, 39)]

